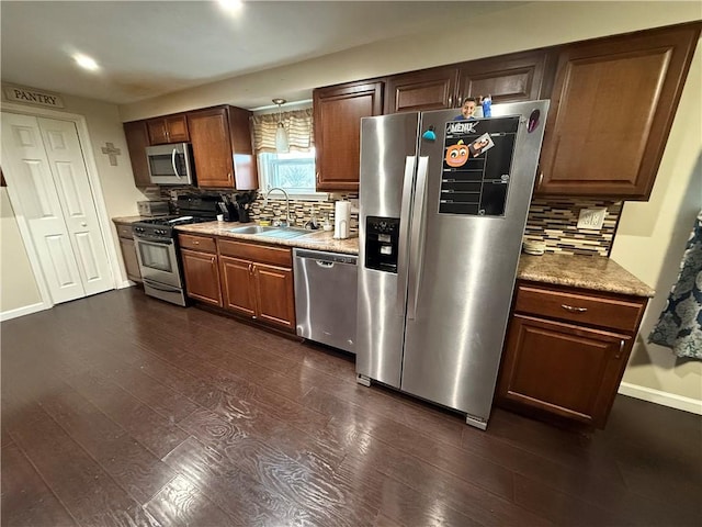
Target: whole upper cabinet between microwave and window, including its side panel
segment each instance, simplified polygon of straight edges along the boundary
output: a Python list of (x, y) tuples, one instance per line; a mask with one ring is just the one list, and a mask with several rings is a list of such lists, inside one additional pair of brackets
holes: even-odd
[(188, 128), (200, 188), (258, 188), (249, 116), (236, 106), (188, 112)]

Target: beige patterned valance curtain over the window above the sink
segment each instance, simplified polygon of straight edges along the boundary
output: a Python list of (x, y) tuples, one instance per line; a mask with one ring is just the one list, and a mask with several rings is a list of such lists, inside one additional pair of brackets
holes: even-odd
[(292, 112), (267, 113), (251, 117), (253, 135), (253, 150), (257, 154), (268, 152), (275, 153), (275, 130), (279, 120), (282, 119), (291, 152), (309, 152), (315, 146), (312, 108), (294, 110)]

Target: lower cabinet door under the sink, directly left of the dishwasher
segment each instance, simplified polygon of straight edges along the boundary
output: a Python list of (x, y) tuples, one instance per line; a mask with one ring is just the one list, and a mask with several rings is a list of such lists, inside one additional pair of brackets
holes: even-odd
[(291, 269), (254, 264), (256, 301), (261, 321), (295, 328), (295, 291)]

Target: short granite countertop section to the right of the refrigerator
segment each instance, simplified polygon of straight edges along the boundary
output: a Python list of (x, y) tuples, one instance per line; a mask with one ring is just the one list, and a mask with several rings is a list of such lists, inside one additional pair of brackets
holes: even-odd
[(614, 260), (601, 256), (522, 254), (517, 278), (634, 296), (656, 293)]

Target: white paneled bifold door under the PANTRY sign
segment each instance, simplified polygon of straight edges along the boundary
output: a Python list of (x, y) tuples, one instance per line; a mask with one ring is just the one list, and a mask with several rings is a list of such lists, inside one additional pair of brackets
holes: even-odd
[(20, 201), (52, 301), (113, 289), (76, 125), (3, 112), (2, 166)]

